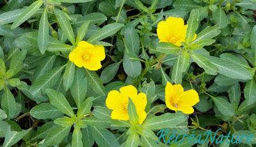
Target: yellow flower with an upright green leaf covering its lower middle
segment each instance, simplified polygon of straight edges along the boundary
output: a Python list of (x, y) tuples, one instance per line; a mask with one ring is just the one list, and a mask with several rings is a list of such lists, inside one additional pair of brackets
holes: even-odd
[(145, 93), (138, 93), (137, 89), (132, 85), (120, 88), (120, 92), (113, 90), (108, 93), (106, 105), (109, 109), (113, 110), (111, 112), (111, 118), (113, 120), (129, 120), (127, 108), (129, 98), (131, 98), (136, 107), (139, 123), (143, 123), (147, 117), (147, 113), (145, 112), (145, 107), (147, 105), (147, 95), (145, 95)]

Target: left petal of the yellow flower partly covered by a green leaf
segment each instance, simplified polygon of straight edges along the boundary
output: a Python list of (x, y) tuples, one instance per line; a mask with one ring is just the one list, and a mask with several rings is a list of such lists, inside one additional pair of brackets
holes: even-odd
[(109, 109), (124, 109), (124, 105), (128, 104), (128, 97), (122, 97), (119, 91), (112, 90), (106, 98), (106, 105)]

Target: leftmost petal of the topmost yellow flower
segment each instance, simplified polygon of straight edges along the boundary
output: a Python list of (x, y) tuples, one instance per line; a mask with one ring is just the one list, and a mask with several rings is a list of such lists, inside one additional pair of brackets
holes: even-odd
[(168, 42), (169, 40), (169, 28), (165, 21), (161, 21), (157, 24), (157, 36), (160, 42)]

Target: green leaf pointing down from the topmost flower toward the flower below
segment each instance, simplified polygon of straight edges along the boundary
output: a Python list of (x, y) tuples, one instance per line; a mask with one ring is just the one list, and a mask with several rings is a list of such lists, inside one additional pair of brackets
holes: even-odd
[(175, 84), (182, 83), (182, 73), (186, 72), (189, 66), (189, 53), (186, 51), (180, 52), (172, 71), (172, 82)]

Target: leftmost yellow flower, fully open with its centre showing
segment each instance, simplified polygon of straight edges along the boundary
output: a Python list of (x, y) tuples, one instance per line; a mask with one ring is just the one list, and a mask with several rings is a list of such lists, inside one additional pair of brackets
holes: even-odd
[(102, 45), (92, 45), (88, 42), (81, 41), (76, 49), (70, 52), (68, 58), (78, 67), (84, 67), (88, 70), (99, 70), (100, 61), (106, 57)]

